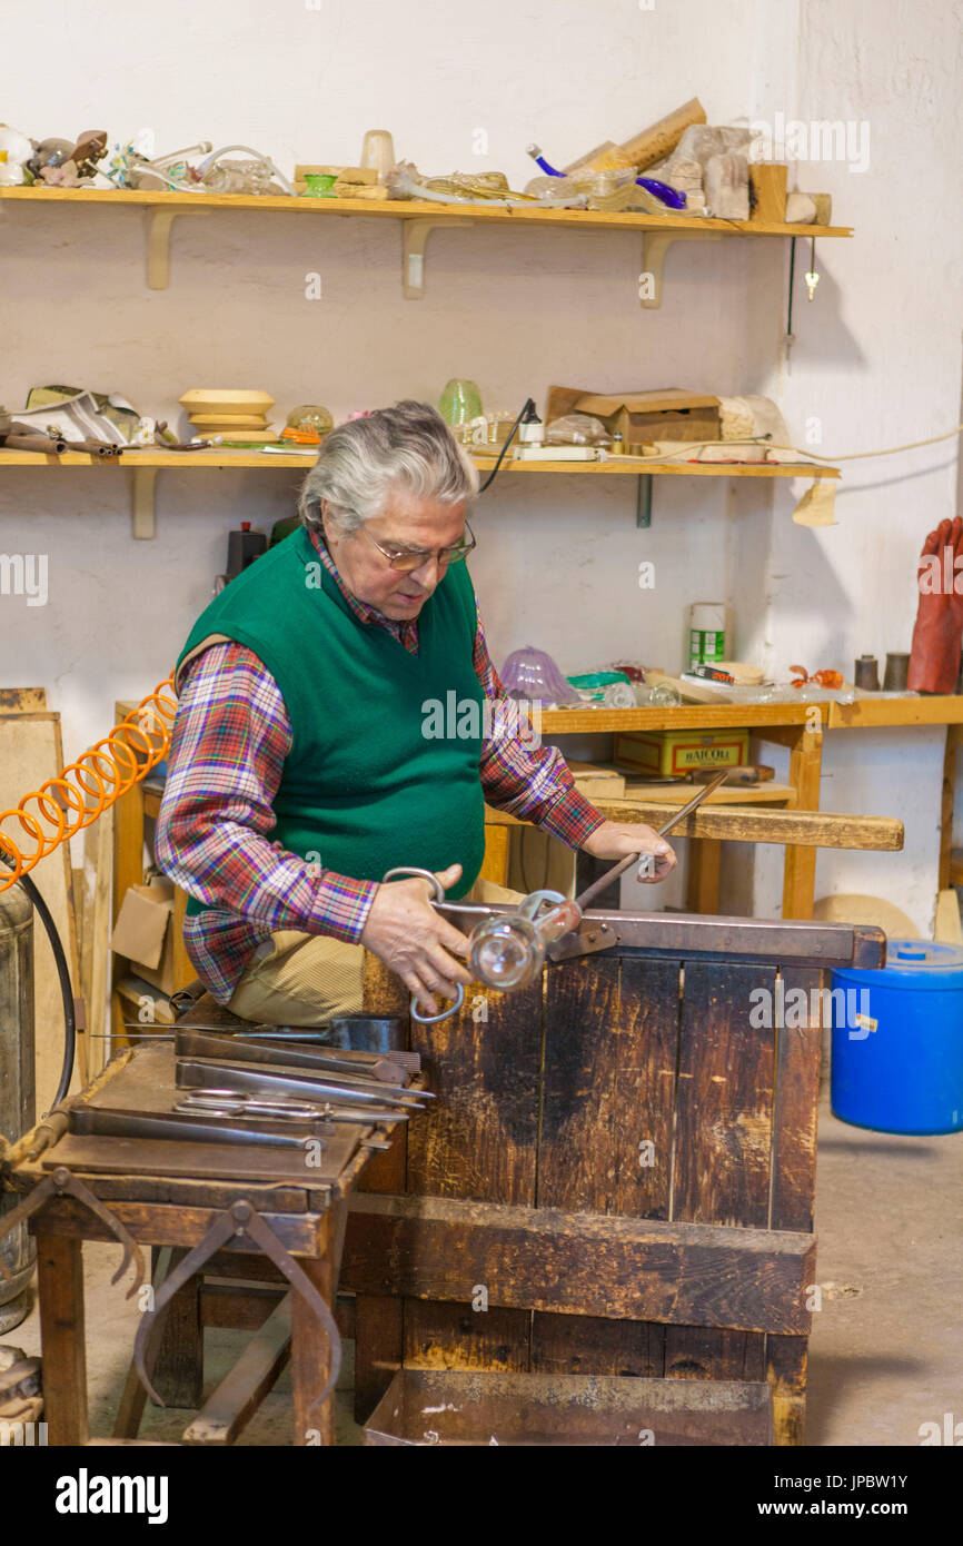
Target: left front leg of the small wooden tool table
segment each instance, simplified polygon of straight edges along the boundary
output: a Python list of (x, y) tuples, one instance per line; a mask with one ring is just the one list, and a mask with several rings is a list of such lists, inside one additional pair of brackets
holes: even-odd
[(87, 1444), (82, 1240), (37, 1234), (37, 1299), (48, 1442)]

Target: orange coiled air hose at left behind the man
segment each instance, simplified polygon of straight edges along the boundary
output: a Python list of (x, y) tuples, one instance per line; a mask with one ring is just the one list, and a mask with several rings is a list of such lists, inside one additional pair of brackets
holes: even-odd
[[(0, 812), (0, 849), (12, 860), (12, 869), (0, 866), (0, 892), (90, 827), (164, 761), (176, 711), (172, 673), (104, 741), (25, 795), (14, 810)], [(5, 830), (8, 826), (15, 836)]]

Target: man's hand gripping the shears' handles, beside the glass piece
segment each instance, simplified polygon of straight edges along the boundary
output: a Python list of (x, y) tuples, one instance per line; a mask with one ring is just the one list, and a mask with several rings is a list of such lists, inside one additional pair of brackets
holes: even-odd
[[(450, 864), (436, 873), (447, 890), (461, 872), (461, 864)], [(379, 886), (362, 945), (399, 974), (428, 1014), (437, 1014), (431, 994), (454, 999), (456, 983), (470, 983), (471, 977), (454, 960), (468, 954), (468, 940), (431, 908), (430, 895), (428, 881), (417, 878)]]

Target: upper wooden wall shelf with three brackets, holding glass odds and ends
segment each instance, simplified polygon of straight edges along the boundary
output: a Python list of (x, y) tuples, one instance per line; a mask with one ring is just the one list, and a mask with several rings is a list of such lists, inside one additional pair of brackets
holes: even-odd
[[(722, 237), (852, 237), (849, 226), (787, 226), (779, 221), (709, 220), (700, 215), (643, 215), (635, 210), (607, 213), (589, 209), (529, 209), (493, 204), (439, 204), (434, 199), (305, 198), (250, 193), (139, 192), (134, 189), (0, 189), (14, 203), (73, 204), (142, 209), (148, 213), (147, 283), (167, 289), (170, 283), (170, 229), (181, 215), (213, 212), (288, 213), (314, 216), (366, 216), (400, 221), (402, 294), (420, 300), (425, 292), (425, 247), (439, 226), (515, 226), (515, 229), (631, 230), (641, 237), (641, 274), (637, 280), (643, 308), (662, 305), (662, 275), (674, 241), (719, 241)], [(645, 280), (645, 284), (641, 283)]]

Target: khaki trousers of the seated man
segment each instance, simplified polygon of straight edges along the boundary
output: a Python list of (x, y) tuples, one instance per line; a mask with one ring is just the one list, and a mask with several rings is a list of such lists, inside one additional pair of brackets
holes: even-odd
[[(521, 892), (476, 880), (465, 901), (521, 901)], [(280, 929), (244, 968), (227, 1008), (258, 1025), (315, 1025), (362, 1010), (360, 945)]]

